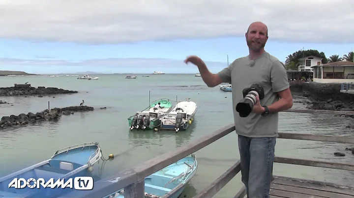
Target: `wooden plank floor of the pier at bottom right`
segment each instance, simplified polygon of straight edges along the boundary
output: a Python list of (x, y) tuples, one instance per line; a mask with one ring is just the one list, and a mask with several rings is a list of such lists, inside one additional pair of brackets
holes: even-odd
[(274, 176), (271, 198), (354, 198), (354, 188), (321, 181)]

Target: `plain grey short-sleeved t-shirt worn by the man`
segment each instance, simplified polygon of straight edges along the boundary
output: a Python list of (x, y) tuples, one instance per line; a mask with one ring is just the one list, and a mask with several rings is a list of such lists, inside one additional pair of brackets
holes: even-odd
[(251, 61), (248, 56), (238, 58), (218, 75), (223, 82), (232, 84), (236, 133), (247, 137), (278, 137), (278, 113), (268, 116), (251, 113), (242, 118), (236, 111), (236, 104), (243, 99), (242, 90), (255, 83), (264, 88), (265, 98), (261, 99), (262, 106), (269, 106), (279, 100), (276, 92), (289, 88), (284, 64), (264, 52), (254, 61)]

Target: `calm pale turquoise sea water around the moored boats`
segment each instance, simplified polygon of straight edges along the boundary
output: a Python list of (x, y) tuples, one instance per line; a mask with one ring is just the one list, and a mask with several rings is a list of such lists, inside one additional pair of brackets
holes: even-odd
[[(159, 154), (174, 150), (214, 130), (233, 123), (231, 93), (221, 92), (219, 87), (207, 87), (201, 77), (194, 74), (162, 74), (137, 79), (125, 79), (125, 74), (92, 75), (99, 80), (79, 80), (78, 76), (19, 76), (0, 77), (1, 87), (29, 81), (31, 86), (59, 87), (79, 91), (78, 94), (51, 97), (0, 97), (13, 103), (0, 104), (0, 116), (36, 113), (48, 108), (79, 105), (93, 106), (93, 112), (62, 116), (58, 122), (43, 122), (17, 128), (0, 130), (0, 176), (28, 167), (50, 158), (60, 148), (99, 142), (105, 158), (113, 153), (113, 161), (107, 161), (104, 176), (118, 173)], [(160, 98), (183, 100), (190, 98), (198, 105), (195, 122), (187, 131), (133, 131), (127, 118), (145, 109), (150, 101)], [(226, 98), (225, 98), (226, 97)], [(295, 96), (295, 101), (300, 98)], [(174, 103), (175, 104), (175, 103)], [(99, 109), (99, 107), (107, 107)], [(304, 108), (294, 103), (293, 108)], [(351, 118), (332, 115), (280, 113), (279, 131), (326, 135), (353, 134), (345, 126)], [(278, 139), (276, 155), (284, 157), (351, 163), (354, 155), (344, 151), (348, 144), (322, 143)], [(346, 152), (344, 157), (334, 157), (333, 152)], [(182, 195), (191, 198), (214, 179), (229, 169), (239, 158), (235, 132), (196, 152), (198, 170)], [(275, 164), (274, 175), (317, 179), (351, 184), (352, 172), (295, 165)], [(215, 198), (230, 198), (241, 188), (240, 173), (220, 191)]]

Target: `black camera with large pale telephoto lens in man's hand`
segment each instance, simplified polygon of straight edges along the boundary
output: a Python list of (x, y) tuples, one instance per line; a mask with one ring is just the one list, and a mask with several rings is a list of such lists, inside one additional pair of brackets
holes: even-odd
[(252, 84), (251, 87), (242, 90), (243, 99), (241, 99), (236, 105), (236, 111), (240, 117), (247, 117), (253, 109), (253, 105), (257, 102), (257, 96), (259, 99), (264, 99), (265, 93), (262, 86), (259, 84)]

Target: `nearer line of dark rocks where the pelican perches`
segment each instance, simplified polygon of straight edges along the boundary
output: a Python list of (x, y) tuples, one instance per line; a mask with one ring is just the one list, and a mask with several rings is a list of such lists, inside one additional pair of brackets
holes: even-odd
[(57, 121), (62, 115), (74, 114), (74, 112), (93, 111), (94, 108), (90, 106), (70, 106), (65, 108), (53, 108), (51, 110), (44, 110), (37, 113), (29, 112), (28, 114), (20, 114), (4, 116), (0, 121), (0, 130), (8, 128), (16, 128), (20, 126), (27, 126), (28, 124), (35, 124), (42, 121)]

